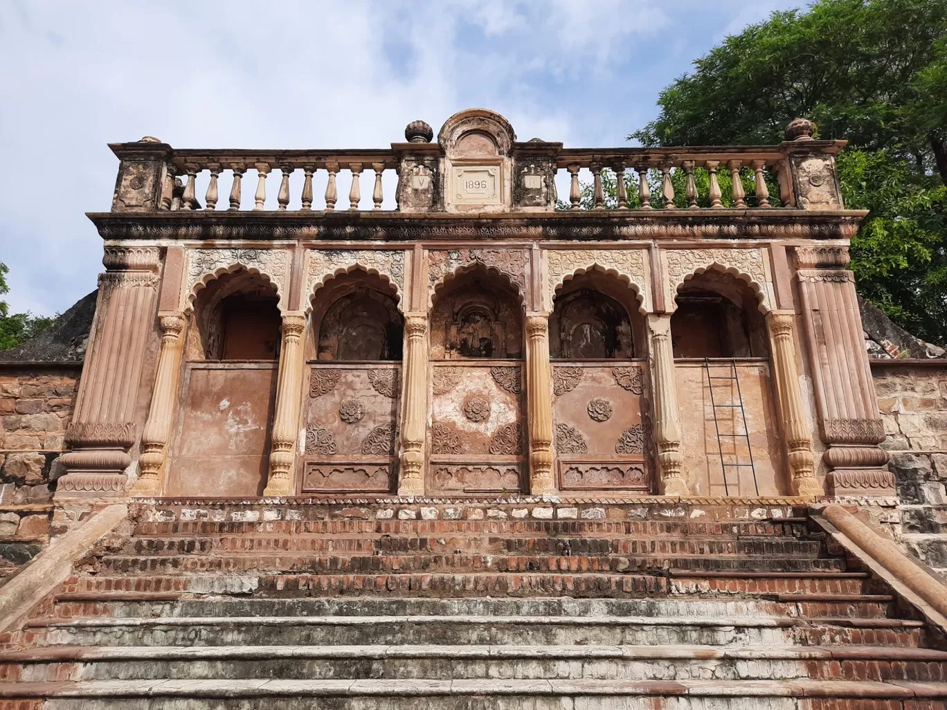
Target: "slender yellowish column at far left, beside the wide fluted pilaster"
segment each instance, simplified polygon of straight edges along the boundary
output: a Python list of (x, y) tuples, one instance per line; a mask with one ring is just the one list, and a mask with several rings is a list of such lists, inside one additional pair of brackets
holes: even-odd
[(158, 372), (154, 378), (152, 405), (148, 421), (141, 434), (141, 457), (138, 459), (138, 480), (132, 488), (133, 495), (160, 495), (164, 489), (165, 457), (171, 425), (174, 422), (178, 375), (181, 371), (181, 356), (184, 352), (184, 314), (180, 312), (159, 313), (161, 329), (161, 353), (158, 355)]

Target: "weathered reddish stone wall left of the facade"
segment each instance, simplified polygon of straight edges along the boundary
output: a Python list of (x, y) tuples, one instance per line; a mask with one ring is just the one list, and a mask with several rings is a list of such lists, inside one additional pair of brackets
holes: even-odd
[(0, 364), (0, 578), (49, 539), (57, 459), (80, 365)]

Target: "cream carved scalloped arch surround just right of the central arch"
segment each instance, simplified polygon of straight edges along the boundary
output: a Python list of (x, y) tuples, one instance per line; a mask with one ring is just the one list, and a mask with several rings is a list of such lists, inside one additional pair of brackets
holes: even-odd
[(651, 278), (648, 256), (642, 249), (550, 250), (546, 253), (548, 289), (545, 304), (552, 311), (553, 301), (566, 282), (576, 276), (598, 271), (615, 276), (634, 292), (640, 313), (652, 311)]

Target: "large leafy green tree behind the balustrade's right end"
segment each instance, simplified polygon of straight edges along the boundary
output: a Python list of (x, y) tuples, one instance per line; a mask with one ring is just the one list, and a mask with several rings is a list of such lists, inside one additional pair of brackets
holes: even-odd
[(838, 160), (846, 204), (870, 210), (852, 240), (858, 289), (920, 337), (947, 341), (947, 0), (775, 12), (694, 62), (658, 105), (630, 138), (773, 144), (805, 116), (819, 137), (849, 140)]

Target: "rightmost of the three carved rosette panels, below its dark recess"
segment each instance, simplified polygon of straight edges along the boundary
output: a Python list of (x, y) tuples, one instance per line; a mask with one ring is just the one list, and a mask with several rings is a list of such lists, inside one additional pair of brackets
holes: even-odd
[(646, 366), (554, 366), (552, 411), (561, 490), (650, 489), (650, 441), (642, 421), (648, 410)]

